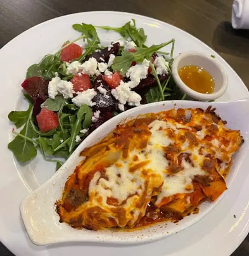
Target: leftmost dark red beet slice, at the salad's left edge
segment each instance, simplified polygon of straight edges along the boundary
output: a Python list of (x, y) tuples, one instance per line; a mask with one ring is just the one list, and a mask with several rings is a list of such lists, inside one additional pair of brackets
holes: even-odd
[(48, 80), (44, 80), (42, 77), (29, 77), (22, 83), (22, 88), (34, 101), (37, 97), (45, 101), (48, 97), (48, 82)]

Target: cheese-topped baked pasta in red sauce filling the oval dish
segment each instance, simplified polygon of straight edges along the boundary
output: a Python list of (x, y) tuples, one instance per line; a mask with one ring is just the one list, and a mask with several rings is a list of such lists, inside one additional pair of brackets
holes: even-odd
[(68, 178), (57, 205), (72, 227), (138, 228), (179, 221), (226, 189), (240, 131), (211, 109), (171, 109), (118, 125)]

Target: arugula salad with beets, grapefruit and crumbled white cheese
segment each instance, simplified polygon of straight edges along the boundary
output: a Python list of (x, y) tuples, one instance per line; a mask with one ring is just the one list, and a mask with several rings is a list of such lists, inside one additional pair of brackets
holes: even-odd
[[(8, 115), (21, 128), (13, 128), (15, 138), (8, 144), (21, 163), (40, 150), (58, 169), (81, 141), (120, 112), (185, 97), (171, 78), (174, 39), (147, 46), (144, 29), (137, 29), (134, 19), (120, 28), (72, 27), (82, 35), (28, 68), (22, 88), (29, 107)], [(96, 29), (116, 31), (122, 38), (103, 46)], [(170, 53), (161, 51), (166, 45)]]

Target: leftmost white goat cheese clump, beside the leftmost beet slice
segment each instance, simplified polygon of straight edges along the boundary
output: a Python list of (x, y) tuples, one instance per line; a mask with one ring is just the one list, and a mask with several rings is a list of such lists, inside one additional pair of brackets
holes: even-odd
[(54, 99), (58, 93), (61, 93), (65, 99), (72, 98), (75, 93), (72, 83), (61, 80), (60, 77), (53, 77), (48, 83), (48, 96), (50, 99)]

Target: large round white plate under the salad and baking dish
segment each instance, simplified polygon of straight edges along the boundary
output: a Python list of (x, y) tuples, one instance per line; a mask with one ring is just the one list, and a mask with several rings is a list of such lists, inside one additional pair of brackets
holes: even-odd
[[(227, 93), (219, 101), (242, 99), (249, 96), (246, 86), (231, 67), (207, 45), (191, 35), (167, 23), (128, 13), (91, 12), (76, 13), (44, 22), (14, 38), (0, 50), (0, 240), (16, 256), (68, 256), (69, 254), (90, 255), (171, 255), (210, 256), (230, 255), (249, 232), (249, 177), (245, 178), (249, 158), (240, 166), (240, 172), (221, 202), (198, 223), (178, 234), (154, 243), (134, 246), (110, 246), (105, 244), (68, 243), (65, 245), (35, 246), (28, 239), (19, 215), (19, 203), (28, 193), (44, 183), (54, 173), (54, 165), (44, 163), (37, 157), (28, 165), (16, 163), (7, 150), (12, 138), (12, 126), (7, 121), (13, 109), (25, 108), (20, 84), (29, 65), (38, 62), (45, 54), (55, 52), (66, 40), (79, 34), (71, 29), (73, 23), (122, 26), (135, 18), (148, 35), (148, 45), (176, 38), (175, 55), (183, 51), (201, 51), (214, 54), (227, 72)], [(102, 40), (119, 37), (113, 32), (99, 33)], [(15, 55), (13, 55), (15, 54)], [(15, 58), (13, 58), (15, 56)], [(243, 113), (241, 113), (243, 118)], [(240, 188), (240, 189), (238, 189)], [(234, 218), (236, 215), (236, 218)]]

